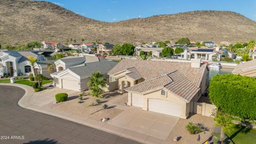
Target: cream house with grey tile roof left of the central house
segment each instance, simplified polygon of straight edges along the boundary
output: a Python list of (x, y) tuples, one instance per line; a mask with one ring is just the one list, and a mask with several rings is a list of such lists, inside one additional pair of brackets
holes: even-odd
[[(93, 72), (100, 71), (100, 73), (108, 78), (108, 71), (116, 65), (116, 62), (103, 58), (90, 56), (79, 58), (84, 59), (82, 63), (79, 63), (73, 67), (66, 67), (63, 70), (51, 74), (54, 79), (55, 86), (58, 86), (61, 89), (74, 91), (88, 90), (87, 82), (90, 81), (90, 76)], [(70, 60), (73, 58), (67, 59)], [(61, 61), (63, 61), (63, 59)], [(74, 59), (72, 61), (75, 63)]]

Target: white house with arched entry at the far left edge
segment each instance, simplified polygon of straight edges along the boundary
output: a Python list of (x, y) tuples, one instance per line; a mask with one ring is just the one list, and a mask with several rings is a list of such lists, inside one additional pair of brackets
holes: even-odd
[(0, 52), (0, 61), (3, 73), (11, 76), (18, 76), (22, 73), (28, 75), (33, 72), (28, 57), (37, 58), (37, 61), (44, 61), (41, 54), (36, 54), (30, 51), (2, 51)]

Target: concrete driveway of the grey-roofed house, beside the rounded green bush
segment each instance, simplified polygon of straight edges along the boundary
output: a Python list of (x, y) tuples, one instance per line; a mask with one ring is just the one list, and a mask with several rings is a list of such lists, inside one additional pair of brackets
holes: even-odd
[(34, 105), (44, 106), (55, 101), (55, 94), (67, 93), (69, 98), (75, 98), (79, 93), (73, 90), (60, 89), (59, 87), (50, 87), (49, 89), (34, 93), (29, 102)]

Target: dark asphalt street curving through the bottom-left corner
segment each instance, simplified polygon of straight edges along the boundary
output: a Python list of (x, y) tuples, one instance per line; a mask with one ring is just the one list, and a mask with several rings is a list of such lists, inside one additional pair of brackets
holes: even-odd
[(25, 91), (19, 87), (0, 86), (0, 143), (137, 143), (21, 108), (17, 102), (23, 94)]

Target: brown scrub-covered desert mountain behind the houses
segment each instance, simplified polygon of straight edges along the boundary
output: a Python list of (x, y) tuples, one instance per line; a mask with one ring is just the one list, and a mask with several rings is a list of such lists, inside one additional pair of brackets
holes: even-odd
[(191, 11), (155, 15), (119, 22), (102, 22), (42, 1), (0, 1), (0, 43), (37, 40), (65, 43), (67, 38), (86, 42), (175, 41), (245, 42), (256, 38), (256, 22), (230, 11)]

